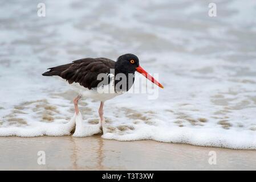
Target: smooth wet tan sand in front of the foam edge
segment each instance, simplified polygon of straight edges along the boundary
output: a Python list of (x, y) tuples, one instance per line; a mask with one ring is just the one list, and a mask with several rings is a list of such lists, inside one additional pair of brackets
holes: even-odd
[[(1, 137), (1, 170), (251, 170), (256, 151), (198, 147), (152, 140), (119, 142), (85, 138)], [(39, 165), (38, 151), (46, 154)], [(210, 165), (209, 152), (217, 154)]]

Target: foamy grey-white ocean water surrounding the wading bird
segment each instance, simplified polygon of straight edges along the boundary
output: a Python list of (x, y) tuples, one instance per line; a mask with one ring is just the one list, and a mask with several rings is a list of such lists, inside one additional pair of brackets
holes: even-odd
[(0, 2), (0, 135), (68, 135), (75, 122), (76, 137), (98, 133), (99, 102), (83, 98), (76, 116), (76, 93), (41, 74), (83, 57), (134, 53), (165, 88), (151, 89), (155, 100), (128, 93), (105, 102), (103, 138), (255, 150), (256, 2), (215, 1), (216, 17), (209, 3)]

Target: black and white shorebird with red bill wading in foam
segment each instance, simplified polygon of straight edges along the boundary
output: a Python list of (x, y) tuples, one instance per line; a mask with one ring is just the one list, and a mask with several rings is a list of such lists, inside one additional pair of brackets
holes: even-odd
[[(79, 95), (74, 98), (76, 114), (79, 113), (78, 101), (82, 96), (100, 101), (99, 118), (101, 127), (104, 123), (104, 101), (127, 92), (133, 85), (135, 72), (143, 74), (160, 88), (164, 88), (140, 67), (138, 57), (131, 53), (118, 57), (117, 61), (104, 57), (88, 57), (48, 69), (50, 71), (43, 73), (43, 76), (60, 76), (75, 89), (78, 89)], [(117, 77), (119, 78), (117, 79)]]

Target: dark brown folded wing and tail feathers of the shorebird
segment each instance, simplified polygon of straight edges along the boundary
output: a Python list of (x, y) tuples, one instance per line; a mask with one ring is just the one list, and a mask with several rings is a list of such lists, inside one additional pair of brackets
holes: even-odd
[[(110, 69), (115, 68), (115, 61), (104, 57), (99, 58), (84, 58), (73, 61), (70, 64), (60, 65), (58, 67), (48, 68), (50, 71), (43, 73), (43, 76), (60, 76), (68, 81), (69, 84), (78, 82), (85, 88), (91, 89), (99, 86), (98, 84), (103, 80), (97, 80), (100, 73), (105, 73), (108, 77)], [(104, 83), (109, 84), (108, 82)]]

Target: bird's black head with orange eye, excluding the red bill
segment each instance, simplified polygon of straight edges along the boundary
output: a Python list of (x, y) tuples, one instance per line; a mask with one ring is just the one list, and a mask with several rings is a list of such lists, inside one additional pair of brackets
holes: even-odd
[(132, 53), (127, 53), (118, 57), (115, 69), (119, 73), (135, 73), (139, 65), (139, 58)]

